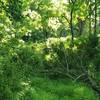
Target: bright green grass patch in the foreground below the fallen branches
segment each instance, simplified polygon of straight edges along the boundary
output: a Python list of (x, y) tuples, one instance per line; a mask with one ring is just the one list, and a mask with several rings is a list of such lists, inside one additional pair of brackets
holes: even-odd
[(68, 79), (32, 77), (31, 81), (22, 85), (17, 100), (99, 100), (91, 88)]

